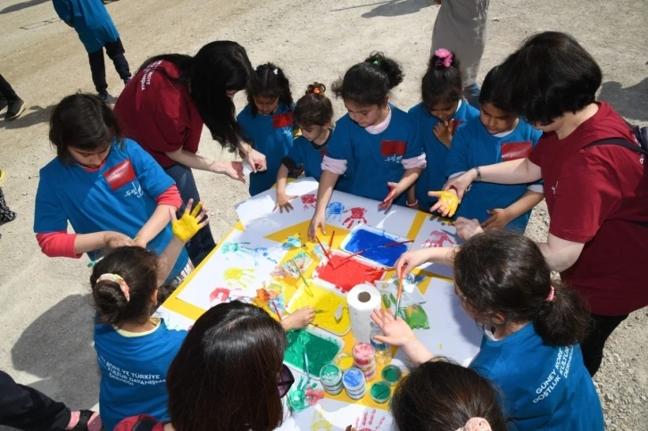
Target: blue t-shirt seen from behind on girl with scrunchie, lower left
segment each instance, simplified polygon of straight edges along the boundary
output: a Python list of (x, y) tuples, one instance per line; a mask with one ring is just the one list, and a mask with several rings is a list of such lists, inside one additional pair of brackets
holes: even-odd
[(167, 328), (163, 319), (153, 332), (140, 336), (124, 336), (112, 325), (95, 325), (101, 370), (99, 414), (105, 429), (139, 414), (170, 419), (167, 372), (186, 336), (187, 331)]

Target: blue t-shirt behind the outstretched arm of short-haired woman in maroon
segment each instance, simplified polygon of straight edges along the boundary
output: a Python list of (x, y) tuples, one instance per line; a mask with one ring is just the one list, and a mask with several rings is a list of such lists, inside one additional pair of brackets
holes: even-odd
[[(541, 136), (541, 131), (532, 128), (522, 119), (519, 119), (516, 128), (500, 137), (488, 133), (479, 117), (468, 120), (465, 126), (457, 130), (453, 136), (453, 145), (445, 161), (445, 176), (450, 177), (476, 166), (524, 159), (536, 146)], [(534, 184), (542, 184), (542, 181)], [(490, 217), (487, 210), (508, 207), (527, 192), (527, 186), (527, 184), (473, 183), (469, 192), (461, 200), (455, 217), (477, 219), (483, 223)], [(530, 217), (531, 211), (528, 211), (517, 219), (511, 220), (506, 228), (522, 233), (527, 228)]]

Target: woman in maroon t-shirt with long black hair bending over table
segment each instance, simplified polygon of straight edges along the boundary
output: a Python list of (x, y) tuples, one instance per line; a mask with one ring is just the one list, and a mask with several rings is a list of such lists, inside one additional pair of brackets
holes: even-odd
[[(211, 42), (195, 56), (149, 58), (115, 104), (126, 137), (142, 145), (175, 180), (183, 202), (200, 202), (192, 169), (244, 181), (241, 162), (216, 162), (196, 154), (203, 125), (223, 148), (238, 152), (253, 171), (266, 169), (265, 156), (243, 141), (232, 102), (252, 75), (243, 46)], [(212, 231), (204, 228), (188, 243), (187, 250), (197, 265), (214, 247)]]

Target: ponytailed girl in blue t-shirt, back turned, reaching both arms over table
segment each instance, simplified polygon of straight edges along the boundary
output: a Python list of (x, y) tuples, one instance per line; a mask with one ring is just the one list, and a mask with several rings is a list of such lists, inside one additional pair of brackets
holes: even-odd
[[(552, 282), (536, 243), (505, 230), (486, 232), (461, 247), (403, 253), (396, 272), (404, 277), (426, 261), (453, 264), (461, 307), (484, 327), (470, 368), (501, 389), (509, 429), (604, 429), (578, 344), (587, 334), (589, 313), (577, 292)], [(402, 347), (416, 363), (434, 358), (403, 319), (384, 311), (372, 319), (386, 335), (377, 336), (379, 341)]]

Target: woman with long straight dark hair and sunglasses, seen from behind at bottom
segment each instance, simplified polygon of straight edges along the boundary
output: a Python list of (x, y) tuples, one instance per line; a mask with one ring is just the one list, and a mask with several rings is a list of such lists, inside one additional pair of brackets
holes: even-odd
[(247, 303), (221, 303), (195, 321), (167, 375), (170, 423), (124, 419), (115, 431), (270, 431), (294, 377), (283, 364), (286, 333)]

